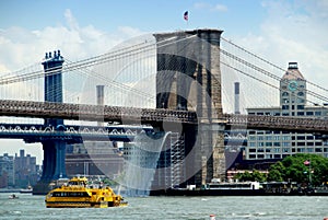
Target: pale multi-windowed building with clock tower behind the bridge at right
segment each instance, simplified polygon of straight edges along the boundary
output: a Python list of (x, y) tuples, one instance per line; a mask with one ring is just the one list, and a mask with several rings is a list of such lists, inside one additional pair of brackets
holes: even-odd
[[(280, 80), (280, 105), (247, 108), (249, 115), (300, 116), (328, 118), (328, 106), (307, 105), (306, 80), (297, 62), (289, 62)], [(247, 130), (246, 160), (283, 159), (295, 153), (317, 153), (328, 158), (328, 141), (314, 134)]]

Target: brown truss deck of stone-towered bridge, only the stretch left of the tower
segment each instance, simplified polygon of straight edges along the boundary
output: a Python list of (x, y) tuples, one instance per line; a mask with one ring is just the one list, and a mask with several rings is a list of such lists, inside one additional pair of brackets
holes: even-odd
[(197, 123), (195, 112), (31, 101), (0, 101), (1, 116), (62, 118), (90, 121)]

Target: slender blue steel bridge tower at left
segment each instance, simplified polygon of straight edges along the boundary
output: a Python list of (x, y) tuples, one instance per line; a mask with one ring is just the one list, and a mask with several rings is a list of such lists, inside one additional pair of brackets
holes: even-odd
[[(47, 53), (43, 62), (45, 71), (45, 102), (62, 103), (62, 69), (63, 59), (60, 50)], [(54, 127), (57, 131), (65, 131), (63, 119), (45, 118), (45, 126)], [(66, 174), (66, 141), (47, 138), (42, 140), (44, 150), (43, 175), (34, 187), (34, 194), (44, 194), (51, 181), (67, 177)]]

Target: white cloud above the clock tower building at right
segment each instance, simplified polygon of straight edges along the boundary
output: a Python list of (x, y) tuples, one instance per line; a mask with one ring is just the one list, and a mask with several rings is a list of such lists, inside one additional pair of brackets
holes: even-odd
[[(260, 33), (236, 36), (234, 42), (284, 69), (289, 61), (297, 61), (307, 81), (327, 88), (327, 3), (265, 1), (262, 5), (268, 15), (261, 23)], [(327, 95), (324, 91), (315, 92)]]

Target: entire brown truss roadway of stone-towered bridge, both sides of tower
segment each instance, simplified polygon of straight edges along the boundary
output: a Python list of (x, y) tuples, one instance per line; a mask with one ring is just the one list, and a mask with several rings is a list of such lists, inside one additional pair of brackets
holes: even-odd
[[(0, 101), (0, 116), (62, 118), (91, 121), (118, 121), (127, 124), (156, 125), (159, 123), (199, 124), (196, 112), (99, 106), (86, 104)], [(263, 130), (290, 130), (295, 132), (328, 134), (328, 119), (268, 115), (223, 114), (213, 123), (229, 128)]]

